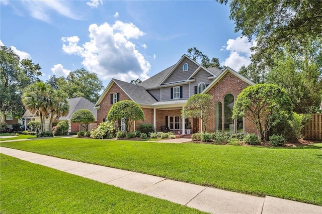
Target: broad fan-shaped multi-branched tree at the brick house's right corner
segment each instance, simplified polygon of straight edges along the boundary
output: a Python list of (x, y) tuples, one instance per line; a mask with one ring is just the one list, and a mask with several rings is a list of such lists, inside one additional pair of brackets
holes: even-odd
[(263, 142), (266, 133), (283, 118), (292, 117), (293, 104), (286, 91), (274, 84), (256, 84), (237, 96), (232, 118), (246, 117)]

